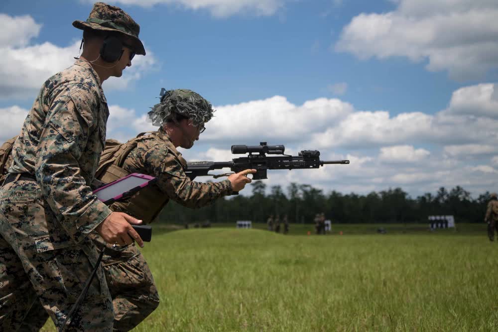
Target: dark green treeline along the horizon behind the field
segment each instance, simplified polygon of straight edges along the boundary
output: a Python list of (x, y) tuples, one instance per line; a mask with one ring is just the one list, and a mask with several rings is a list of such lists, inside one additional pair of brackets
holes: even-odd
[(473, 199), (470, 193), (457, 186), (450, 191), (439, 188), (435, 195), (426, 193), (411, 198), (401, 188), (343, 195), (336, 191), (328, 194), (310, 185), (291, 183), (286, 191), (272, 186), (266, 194), (266, 184), (254, 181), (252, 195), (239, 195), (220, 199), (215, 204), (188, 209), (171, 202), (159, 219), (173, 223), (235, 222), (250, 220), (266, 222), (270, 214), (288, 216), (291, 223), (313, 223), (315, 214), (325, 213), (327, 219), (340, 223), (368, 222), (428, 222), (431, 215), (453, 215), (458, 222), (484, 222), (490, 193)]

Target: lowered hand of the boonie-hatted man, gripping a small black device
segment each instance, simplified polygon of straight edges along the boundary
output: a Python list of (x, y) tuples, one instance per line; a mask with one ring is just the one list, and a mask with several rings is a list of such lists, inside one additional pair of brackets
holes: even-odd
[(112, 212), (97, 226), (96, 230), (107, 243), (126, 245), (133, 243), (134, 240), (143, 248), (143, 241), (130, 225), (131, 223), (137, 225), (142, 221), (122, 212)]

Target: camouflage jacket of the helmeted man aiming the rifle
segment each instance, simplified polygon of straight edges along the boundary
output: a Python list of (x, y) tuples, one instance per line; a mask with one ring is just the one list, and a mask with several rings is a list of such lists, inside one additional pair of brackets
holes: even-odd
[[(185, 174), (186, 161), (171, 143), (169, 136), (162, 129), (154, 131), (149, 135), (152, 138), (138, 141), (119, 165), (127, 173), (144, 173), (157, 178), (157, 182), (152, 185), (159, 193), (164, 194), (167, 199), (161, 201), (161, 206), (154, 206), (150, 202), (149, 207), (143, 206), (159, 213), (171, 199), (188, 208), (201, 208), (213, 203), (220, 197), (232, 193), (232, 183), (230, 180), (223, 180), (213, 183), (201, 183), (190, 180)], [(142, 190), (142, 192), (144, 192)], [(138, 193), (140, 195), (141, 192)], [(133, 198), (131, 200), (133, 201)], [(130, 211), (128, 202), (115, 203), (113, 210), (125, 211), (136, 218), (141, 219), (140, 213)], [(145, 221), (144, 222), (150, 222)]]

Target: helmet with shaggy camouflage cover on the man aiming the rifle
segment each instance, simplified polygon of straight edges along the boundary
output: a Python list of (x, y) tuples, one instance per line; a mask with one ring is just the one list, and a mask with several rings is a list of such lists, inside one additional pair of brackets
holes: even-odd
[(166, 91), (161, 89), (161, 103), (154, 105), (148, 112), (153, 125), (161, 126), (174, 114), (191, 119), (194, 125), (208, 122), (213, 117), (213, 107), (198, 93), (187, 89)]

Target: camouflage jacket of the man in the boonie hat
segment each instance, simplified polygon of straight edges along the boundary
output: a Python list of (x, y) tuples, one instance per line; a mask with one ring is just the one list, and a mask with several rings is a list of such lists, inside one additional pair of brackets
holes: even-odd
[(36, 176), (42, 198), (77, 242), (111, 213), (89, 187), (108, 117), (98, 74), (77, 60), (44, 83), (12, 147), (9, 173)]

